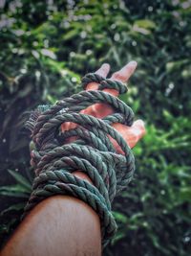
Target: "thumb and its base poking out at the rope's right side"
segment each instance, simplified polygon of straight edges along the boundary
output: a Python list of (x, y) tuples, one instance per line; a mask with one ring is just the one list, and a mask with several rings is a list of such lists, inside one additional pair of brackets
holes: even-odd
[[(117, 131), (122, 135), (123, 139), (126, 141), (126, 143), (129, 145), (131, 149), (136, 146), (138, 141), (146, 133), (144, 122), (140, 119), (135, 121), (132, 127), (127, 127), (117, 123), (117, 124), (113, 124), (113, 128), (117, 129)], [(115, 146), (115, 149), (117, 150), (117, 152), (124, 154), (124, 152), (121, 150), (121, 148), (117, 144), (117, 141), (111, 137), (110, 139), (113, 145)]]

